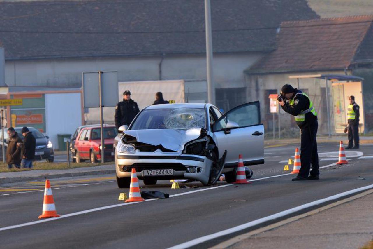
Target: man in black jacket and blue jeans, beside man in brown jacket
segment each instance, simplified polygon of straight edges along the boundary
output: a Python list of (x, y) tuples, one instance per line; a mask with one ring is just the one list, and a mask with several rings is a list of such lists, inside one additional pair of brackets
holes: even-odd
[(31, 169), (32, 168), (32, 160), (35, 157), (35, 147), (36, 147), (36, 139), (34, 135), (32, 135), (31, 131), (25, 126), (21, 130), (23, 138), (23, 144), (21, 144), (22, 148), (22, 162), (21, 165), (23, 168)]

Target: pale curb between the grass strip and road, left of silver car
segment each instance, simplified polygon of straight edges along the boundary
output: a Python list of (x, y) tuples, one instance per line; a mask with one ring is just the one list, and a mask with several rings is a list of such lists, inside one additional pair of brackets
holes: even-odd
[(29, 177), (8, 177), (8, 178), (0, 178), (0, 184), (25, 182), (25, 181), (37, 181), (37, 180), (72, 177), (72, 176), (104, 175), (104, 174), (114, 174), (114, 173), (115, 173), (115, 170), (96, 170), (96, 171), (87, 171), (87, 172), (61, 173), (61, 174), (53, 174), (53, 175), (45, 174), (45, 175), (29, 176)]

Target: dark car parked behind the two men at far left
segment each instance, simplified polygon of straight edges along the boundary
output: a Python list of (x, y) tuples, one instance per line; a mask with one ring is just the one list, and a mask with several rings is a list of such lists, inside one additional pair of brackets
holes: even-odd
[[(35, 147), (35, 160), (47, 160), (47, 162), (54, 161), (54, 150), (53, 144), (49, 141), (48, 136), (44, 136), (39, 130), (35, 129), (34, 127), (27, 127), (32, 135), (34, 135), (36, 139), (36, 147)], [(21, 133), (22, 127), (14, 127), (18, 136), (23, 140), (23, 136)], [(1, 137), (1, 132), (0, 132)], [(4, 132), (4, 138), (6, 141), (8, 140), (8, 134)]]

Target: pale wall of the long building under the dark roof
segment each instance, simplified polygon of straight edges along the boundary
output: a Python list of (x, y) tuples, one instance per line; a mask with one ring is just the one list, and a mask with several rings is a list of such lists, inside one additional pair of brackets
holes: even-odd
[[(244, 87), (243, 71), (263, 53), (224, 53), (214, 55), (217, 88)], [(160, 70), (160, 63), (162, 67)], [(82, 72), (118, 71), (118, 80), (206, 80), (205, 55), (164, 55), (122, 58), (34, 59), (5, 62), (8, 86), (80, 87)], [(161, 71), (161, 72), (160, 72)]]

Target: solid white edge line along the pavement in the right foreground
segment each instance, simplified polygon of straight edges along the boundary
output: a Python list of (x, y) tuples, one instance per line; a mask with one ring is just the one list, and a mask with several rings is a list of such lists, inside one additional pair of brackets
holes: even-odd
[(238, 231), (241, 231), (241, 230), (244, 230), (244, 229), (247, 229), (247, 228), (250, 228), (250, 227), (254, 227), (254, 226), (262, 224), (264, 222), (271, 221), (271, 220), (274, 220), (274, 219), (278, 219), (278, 218), (281, 218), (281, 217), (286, 216), (286, 215), (290, 215), (292, 213), (298, 212), (298, 211), (306, 209), (308, 207), (317, 206), (317, 205), (320, 205), (320, 204), (325, 203), (325, 202), (329, 202), (329, 201), (332, 201), (332, 200), (339, 199), (341, 197), (345, 197), (345, 196), (348, 196), (348, 195), (351, 195), (351, 194), (354, 194), (354, 193), (358, 193), (360, 191), (368, 190), (370, 188), (373, 188), (373, 184), (365, 186), (365, 187), (361, 187), (361, 188), (355, 188), (353, 190), (346, 191), (346, 192), (343, 192), (343, 193), (335, 194), (335, 195), (329, 196), (325, 199), (320, 199), (320, 200), (316, 200), (314, 202), (309, 202), (309, 203), (306, 203), (306, 204), (303, 204), (303, 205), (300, 205), (300, 206), (297, 206), (297, 207), (293, 207), (291, 209), (288, 209), (288, 210), (285, 210), (285, 211), (282, 211), (282, 212), (278, 212), (278, 213), (275, 213), (273, 215), (269, 215), (269, 216), (266, 216), (266, 217), (263, 217), (263, 218), (260, 218), (260, 219), (256, 219), (254, 221), (250, 221), (250, 222), (247, 222), (245, 224), (238, 225), (236, 227), (232, 227), (232, 228), (229, 228), (229, 229), (217, 232), (217, 233), (209, 234), (209, 235), (206, 235), (206, 236), (194, 239), (194, 240), (190, 240), (188, 242), (184, 242), (184, 243), (176, 245), (176, 246), (172, 246), (168, 249), (189, 248), (191, 246), (195, 246), (195, 245), (198, 245), (200, 243), (203, 243), (203, 242), (206, 242), (206, 241), (209, 241), (209, 240), (212, 240), (212, 239), (216, 239), (216, 238), (221, 237), (221, 236), (225, 236), (225, 235), (228, 235), (228, 234), (231, 234), (231, 233), (236, 233)]

